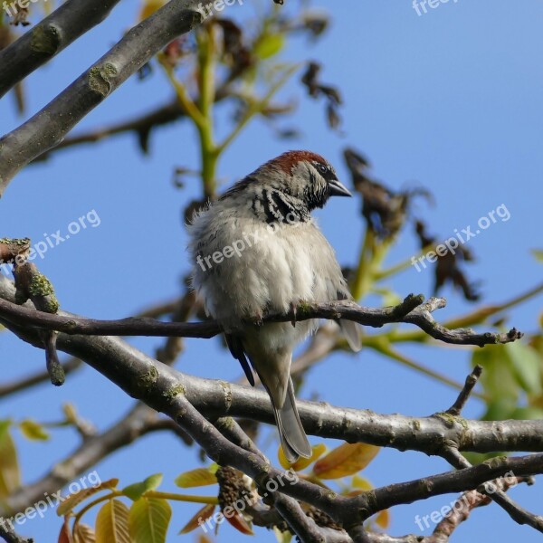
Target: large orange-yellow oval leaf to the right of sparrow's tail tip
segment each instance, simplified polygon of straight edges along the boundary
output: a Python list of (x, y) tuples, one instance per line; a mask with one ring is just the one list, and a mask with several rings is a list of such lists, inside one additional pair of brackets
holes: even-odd
[(338, 479), (363, 470), (371, 462), (380, 447), (366, 443), (343, 443), (330, 451), (313, 467), (320, 479)]

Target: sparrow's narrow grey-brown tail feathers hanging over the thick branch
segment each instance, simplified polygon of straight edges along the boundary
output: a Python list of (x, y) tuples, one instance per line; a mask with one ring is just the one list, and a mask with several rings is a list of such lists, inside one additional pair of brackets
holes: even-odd
[(294, 398), (294, 387), (290, 377), (287, 394), (281, 409), (277, 409), (273, 401), (271, 403), (273, 404), (273, 413), (275, 414), (275, 421), (281, 438), (281, 446), (287, 460), (294, 463), (300, 456), (310, 458), (311, 445), (301, 425), (300, 415), (296, 408), (296, 399)]

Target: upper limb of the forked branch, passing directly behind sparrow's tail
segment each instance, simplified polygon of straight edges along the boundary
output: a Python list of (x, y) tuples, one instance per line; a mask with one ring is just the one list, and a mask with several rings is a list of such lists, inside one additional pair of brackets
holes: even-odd
[[(2, 298), (13, 300), (14, 286), (0, 276)], [(0, 321), (19, 338), (43, 348), (36, 329), (14, 325), (2, 317)], [(273, 422), (270, 400), (263, 391), (183, 374), (160, 364), (122, 339), (60, 334), (57, 346), (80, 357), (127, 394), (149, 405), (157, 402), (159, 406), (165, 397), (184, 392), (191, 404), (206, 416), (230, 415)], [(299, 408), (306, 432), (352, 443), (372, 443), (401, 451), (438, 455), (451, 446), (472, 452), (543, 451), (541, 420), (472, 421), (451, 414), (409, 417), (313, 402), (299, 402)]]

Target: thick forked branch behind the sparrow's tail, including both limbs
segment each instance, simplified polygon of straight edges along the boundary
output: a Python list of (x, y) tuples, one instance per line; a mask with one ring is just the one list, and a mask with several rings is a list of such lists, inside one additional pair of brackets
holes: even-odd
[[(13, 297), (13, 285), (2, 279), (0, 294)], [(21, 338), (41, 346), (35, 330), (21, 329), (8, 321), (6, 325)], [(58, 344), (59, 348), (81, 357), (96, 367), (129, 395), (168, 414), (186, 433), (195, 438), (214, 461), (242, 470), (262, 486), (265, 486), (265, 481), (269, 477), (280, 475), (280, 472), (271, 468), (258, 455), (246, 452), (225, 439), (203, 416), (207, 414), (214, 417), (221, 414), (220, 412), (238, 414), (237, 407), (243, 405), (243, 409), (240, 410), (243, 411), (243, 415), (257, 419), (262, 416), (262, 420), (270, 422), (271, 407), (267, 396), (262, 392), (180, 374), (146, 357), (119, 338), (88, 338), (60, 334)], [(348, 441), (383, 444), (401, 450), (414, 448), (439, 453), (452, 443), (458, 444), (459, 449), (473, 450), (477, 448), (474, 444), (478, 442), (486, 444), (493, 442), (494, 451), (506, 450), (507, 445), (502, 446), (502, 443), (507, 442), (508, 438), (510, 445), (514, 444), (517, 450), (529, 450), (536, 442), (538, 450), (543, 450), (541, 427), (543, 421), (480, 423), (460, 420), (451, 414), (409, 419), (400, 415), (377, 415), (328, 405), (323, 409), (323, 405), (305, 402), (300, 403), (300, 415), (308, 433), (346, 438)], [(500, 429), (497, 429), (496, 425), (499, 425)], [(371, 427), (367, 439), (360, 439), (361, 427), (365, 427), (366, 430)], [(350, 529), (378, 510), (452, 491), (476, 488), (482, 482), (503, 476), (505, 472), (511, 470), (517, 476), (543, 472), (543, 454), (493, 459), (474, 468), (390, 485), (356, 498), (338, 495), (330, 497), (329, 491), (308, 481), (285, 486), (283, 490), (297, 500), (318, 507)], [(351, 532), (354, 533), (353, 530)]]

